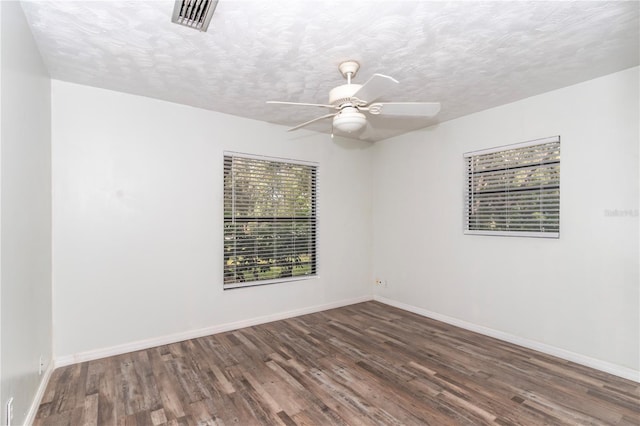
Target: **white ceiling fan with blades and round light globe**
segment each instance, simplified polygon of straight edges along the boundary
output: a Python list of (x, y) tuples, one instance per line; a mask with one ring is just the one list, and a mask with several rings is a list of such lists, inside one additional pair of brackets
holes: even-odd
[(392, 77), (374, 74), (364, 84), (351, 83), (360, 68), (356, 61), (342, 62), (338, 69), (347, 84), (333, 88), (329, 92), (329, 104), (314, 104), (302, 102), (267, 101), (268, 104), (313, 106), (333, 110), (329, 114), (316, 117), (290, 128), (288, 131), (298, 130), (316, 121), (332, 118), (333, 129), (345, 133), (356, 133), (367, 126), (367, 116), (398, 116), (398, 117), (433, 117), (440, 111), (438, 102), (374, 102), (385, 94), (398, 81)]

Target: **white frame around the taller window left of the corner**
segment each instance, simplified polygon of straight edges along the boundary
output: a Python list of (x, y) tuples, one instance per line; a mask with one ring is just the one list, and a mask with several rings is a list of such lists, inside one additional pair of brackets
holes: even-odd
[[(310, 167), (312, 170), (312, 194), (311, 194), (311, 198), (312, 198), (312, 211), (313, 211), (313, 215), (310, 217), (310, 225), (313, 227), (313, 233), (311, 236), (312, 239), (312, 243), (309, 246), (310, 250), (312, 250), (312, 264), (311, 264), (311, 268), (312, 268), (312, 273), (310, 274), (305, 274), (305, 275), (294, 275), (291, 277), (279, 277), (279, 278), (273, 278), (273, 279), (258, 279), (258, 280), (253, 280), (253, 281), (243, 281), (243, 282), (226, 282), (226, 270), (225, 270), (225, 265), (223, 265), (223, 271), (222, 271), (222, 277), (223, 277), (223, 290), (231, 290), (231, 289), (237, 289), (237, 288), (246, 288), (246, 287), (255, 287), (255, 286), (263, 286), (263, 285), (269, 285), (269, 284), (277, 284), (277, 283), (285, 283), (285, 282), (293, 282), (293, 281), (302, 281), (302, 280), (310, 280), (310, 279), (316, 279), (319, 276), (319, 244), (318, 244), (318, 236), (319, 236), (319, 219), (318, 219), (318, 205), (319, 205), (319, 164), (317, 162), (312, 162), (312, 161), (305, 161), (305, 160), (297, 160), (297, 159), (291, 159), (291, 158), (284, 158), (284, 157), (273, 157), (273, 156), (265, 156), (265, 155), (257, 155), (257, 154), (248, 154), (248, 153), (243, 153), (243, 152), (236, 152), (236, 151), (223, 151), (223, 158), (222, 158), (222, 163), (223, 163), (223, 183), (222, 183), (222, 198), (223, 198), (223, 202), (222, 202), (222, 222), (223, 222), (223, 232), (222, 232), (222, 236), (223, 236), (223, 261), (226, 262), (226, 256), (225, 256), (225, 238), (227, 236), (227, 233), (225, 231), (225, 227), (227, 225), (227, 221), (228, 221), (228, 217), (225, 216), (225, 206), (226, 206), (226, 191), (225, 191), (225, 174), (227, 173), (225, 167), (226, 167), (226, 162), (227, 162), (227, 157), (232, 157), (232, 158), (244, 158), (244, 159), (249, 159), (249, 160), (258, 160), (258, 161), (265, 161), (265, 162), (272, 162), (272, 163), (283, 163), (283, 164), (289, 164), (289, 165), (300, 165), (300, 166), (305, 166), (305, 167)], [(259, 219), (259, 217), (253, 217), (255, 219)], [(284, 220), (283, 218), (278, 218), (278, 217), (268, 217), (265, 216), (265, 220), (264, 222), (270, 222), (270, 223), (275, 223), (279, 220)], [(292, 219), (293, 220), (293, 219)], [(253, 221), (253, 222), (258, 222), (259, 220)], [(237, 223), (235, 222), (235, 218), (233, 218), (233, 223)], [(295, 266), (294, 266), (295, 267)]]

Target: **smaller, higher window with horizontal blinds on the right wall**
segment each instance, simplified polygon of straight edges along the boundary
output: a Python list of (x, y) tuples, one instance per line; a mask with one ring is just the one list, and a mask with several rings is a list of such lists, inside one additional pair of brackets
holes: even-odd
[(464, 157), (466, 234), (559, 237), (559, 136)]

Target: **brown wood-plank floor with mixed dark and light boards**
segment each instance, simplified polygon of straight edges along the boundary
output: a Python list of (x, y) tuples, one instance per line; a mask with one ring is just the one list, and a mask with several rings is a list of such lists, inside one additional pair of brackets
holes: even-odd
[(638, 425), (638, 383), (366, 302), (55, 370), (35, 425)]

